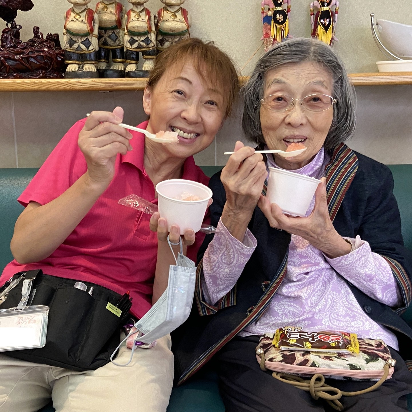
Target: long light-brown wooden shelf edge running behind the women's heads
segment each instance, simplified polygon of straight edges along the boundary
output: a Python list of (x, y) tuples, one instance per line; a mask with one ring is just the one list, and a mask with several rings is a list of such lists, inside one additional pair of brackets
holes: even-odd
[[(354, 86), (412, 84), (412, 72), (353, 73)], [(241, 77), (241, 81), (247, 77)], [(0, 80), (1, 91), (116, 91), (143, 90), (147, 79), (21, 79)]]

